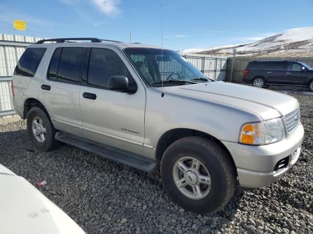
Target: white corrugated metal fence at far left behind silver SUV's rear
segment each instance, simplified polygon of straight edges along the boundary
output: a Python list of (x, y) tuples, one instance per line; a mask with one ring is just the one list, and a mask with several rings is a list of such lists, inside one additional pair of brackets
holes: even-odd
[(25, 48), (37, 40), (19, 35), (0, 34), (0, 116), (14, 114), (10, 81)]

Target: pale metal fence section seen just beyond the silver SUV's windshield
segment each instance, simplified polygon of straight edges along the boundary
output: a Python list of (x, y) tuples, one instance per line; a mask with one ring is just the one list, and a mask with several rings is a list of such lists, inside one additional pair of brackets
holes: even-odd
[(196, 66), (207, 78), (224, 80), (226, 78), (227, 57), (211, 56), (179, 52), (183, 57)]

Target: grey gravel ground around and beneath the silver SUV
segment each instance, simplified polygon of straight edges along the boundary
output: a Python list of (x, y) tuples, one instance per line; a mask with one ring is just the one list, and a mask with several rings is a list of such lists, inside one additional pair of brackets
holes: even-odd
[(300, 102), (302, 154), (278, 182), (251, 192), (238, 189), (223, 211), (184, 211), (149, 174), (75, 147), (42, 153), (25, 121), (0, 119), (0, 163), (36, 186), (88, 234), (98, 233), (313, 233), (313, 95), (287, 92)]

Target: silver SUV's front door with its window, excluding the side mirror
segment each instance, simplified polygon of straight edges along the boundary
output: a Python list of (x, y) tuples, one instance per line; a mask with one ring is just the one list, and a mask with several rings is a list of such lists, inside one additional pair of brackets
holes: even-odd
[[(88, 74), (79, 96), (84, 136), (143, 155), (146, 93), (142, 83), (135, 81), (136, 74), (120, 51), (91, 48), (89, 53)], [(137, 91), (109, 90), (112, 76), (126, 76)]]

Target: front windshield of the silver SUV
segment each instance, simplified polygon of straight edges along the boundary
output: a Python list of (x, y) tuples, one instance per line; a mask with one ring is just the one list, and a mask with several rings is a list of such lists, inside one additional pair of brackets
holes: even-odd
[(179, 53), (154, 48), (126, 48), (125, 53), (133, 61), (148, 86), (159, 87), (208, 82), (194, 65)]

